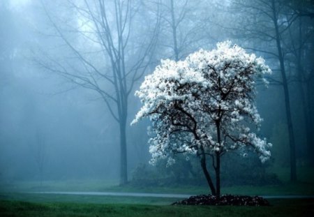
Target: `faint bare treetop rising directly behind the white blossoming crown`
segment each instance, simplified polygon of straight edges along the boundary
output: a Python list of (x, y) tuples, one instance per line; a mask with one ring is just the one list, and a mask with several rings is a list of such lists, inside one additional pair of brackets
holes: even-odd
[[(204, 29), (207, 17), (204, 17), (204, 2), (188, 0), (160, 1), (163, 36), (167, 40), (160, 43), (161, 47), (171, 50), (170, 57), (175, 61), (186, 57), (207, 38)], [(208, 13), (208, 11), (207, 11)]]

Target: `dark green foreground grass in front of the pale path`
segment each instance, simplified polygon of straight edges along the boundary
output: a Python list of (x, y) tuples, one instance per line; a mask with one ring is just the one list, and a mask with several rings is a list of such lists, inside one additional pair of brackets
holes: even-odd
[(0, 200), (0, 216), (313, 216), (313, 200), (270, 200), (271, 207), (156, 206)]

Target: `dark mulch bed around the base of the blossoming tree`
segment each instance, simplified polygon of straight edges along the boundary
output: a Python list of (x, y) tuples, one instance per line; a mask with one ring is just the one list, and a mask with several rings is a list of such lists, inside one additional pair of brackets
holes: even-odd
[(186, 200), (174, 202), (172, 205), (212, 205), (212, 206), (269, 206), (263, 197), (243, 195), (221, 195), (218, 199), (214, 195), (191, 196)]

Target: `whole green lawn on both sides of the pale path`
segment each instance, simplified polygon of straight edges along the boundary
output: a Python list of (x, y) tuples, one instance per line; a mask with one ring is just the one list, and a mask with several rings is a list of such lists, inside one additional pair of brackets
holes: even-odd
[[(285, 180), (287, 172), (281, 172), (282, 185), (234, 186), (223, 188), (222, 192), (238, 195), (314, 195), (312, 170), (306, 170), (304, 179), (300, 176), (294, 184)], [(37, 191), (208, 193), (206, 187), (200, 186), (140, 188), (118, 186), (116, 181), (103, 180), (0, 183), (0, 216), (314, 216), (314, 199), (271, 199), (270, 207), (170, 206), (180, 199), (34, 193)]]

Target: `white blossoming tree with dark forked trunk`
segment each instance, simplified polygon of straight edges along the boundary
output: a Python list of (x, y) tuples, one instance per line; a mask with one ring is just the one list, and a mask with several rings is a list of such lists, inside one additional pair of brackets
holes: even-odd
[[(143, 117), (151, 120), (151, 163), (167, 158), (172, 164), (174, 154), (197, 155), (211, 193), (219, 197), (223, 154), (251, 147), (262, 162), (271, 155), (271, 144), (248, 127), (258, 129), (262, 121), (254, 103), (255, 79), (268, 73), (264, 59), (230, 41), (218, 43), (216, 50), (190, 54), (184, 61), (161, 61), (135, 93), (143, 105), (132, 123)], [(216, 186), (207, 158), (212, 160)]]

